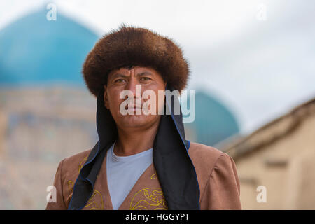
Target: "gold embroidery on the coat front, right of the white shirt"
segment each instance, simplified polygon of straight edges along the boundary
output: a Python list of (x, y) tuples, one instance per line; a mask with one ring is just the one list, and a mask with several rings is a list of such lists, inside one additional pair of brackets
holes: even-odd
[(144, 188), (139, 190), (130, 202), (130, 210), (167, 210), (162, 188)]

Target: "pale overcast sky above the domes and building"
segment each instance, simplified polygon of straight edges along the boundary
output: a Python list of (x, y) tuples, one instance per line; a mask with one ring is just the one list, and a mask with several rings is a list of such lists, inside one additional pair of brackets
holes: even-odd
[(188, 89), (227, 104), (243, 133), (315, 97), (315, 1), (0, 0), (0, 29), (48, 3), (99, 36), (124, 22), (174, 39)]

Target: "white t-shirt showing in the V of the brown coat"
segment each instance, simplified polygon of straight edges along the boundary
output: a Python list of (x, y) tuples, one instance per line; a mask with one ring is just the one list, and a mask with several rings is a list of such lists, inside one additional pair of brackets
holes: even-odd
[(113, 209), (117, 210), (141, 174), (153, 162), (153, 148), (129, 156), (117, 156), (115, 143), (106, 155), (106, 173)]

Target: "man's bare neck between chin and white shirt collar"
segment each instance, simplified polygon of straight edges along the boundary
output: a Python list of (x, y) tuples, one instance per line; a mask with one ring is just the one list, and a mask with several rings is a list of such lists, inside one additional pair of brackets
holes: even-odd
[(153, 148), (153, 141), (158, 132), (159, 123), (141, 130), (123, 130), (118, 128), (118, 139), (114, 153), (118, 156), (128, 156)]

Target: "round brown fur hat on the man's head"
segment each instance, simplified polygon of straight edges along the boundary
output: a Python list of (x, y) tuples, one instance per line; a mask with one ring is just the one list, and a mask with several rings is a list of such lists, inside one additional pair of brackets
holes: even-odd
[(175, 90), (186, 87), (189, 67), (179, 45), (170, 38), (144, 28), (121, 25), (103, 36), (83, 64), (85, 83), (95, 96), (113, 69), (149, 66)]

